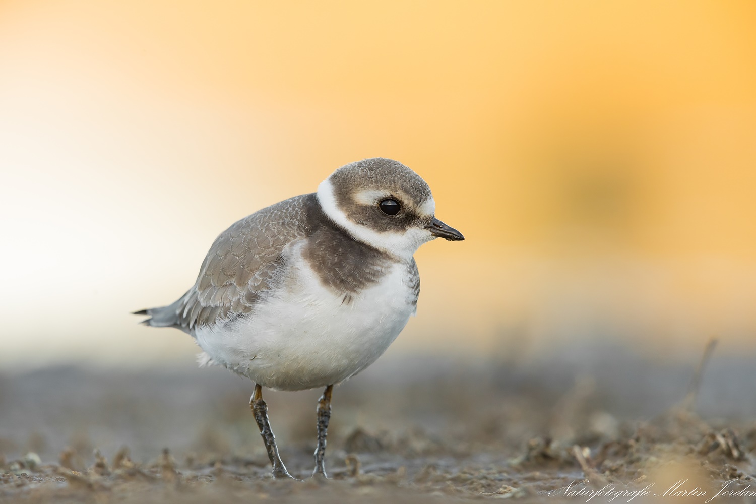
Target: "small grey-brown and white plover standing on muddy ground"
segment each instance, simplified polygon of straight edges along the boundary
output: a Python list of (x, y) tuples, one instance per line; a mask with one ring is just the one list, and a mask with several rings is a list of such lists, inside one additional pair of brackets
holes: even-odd
[(224, 366), (254, 382), (249, 407), (273, 478), (293, 476), (262, 388), (324, 388), (312, 475), (327, 478), (333, 387), (375, 362), (416, 314), (413, 255), (436, 238), (464, 240), (435, 218), (426, 181), (401, 162), (363, 159), (336, 169), (314, 193), (232, 224), (181, 298), (133, 313), (150, 317), (144, 325), (191, 335), (202, 349), (200, 366)]

